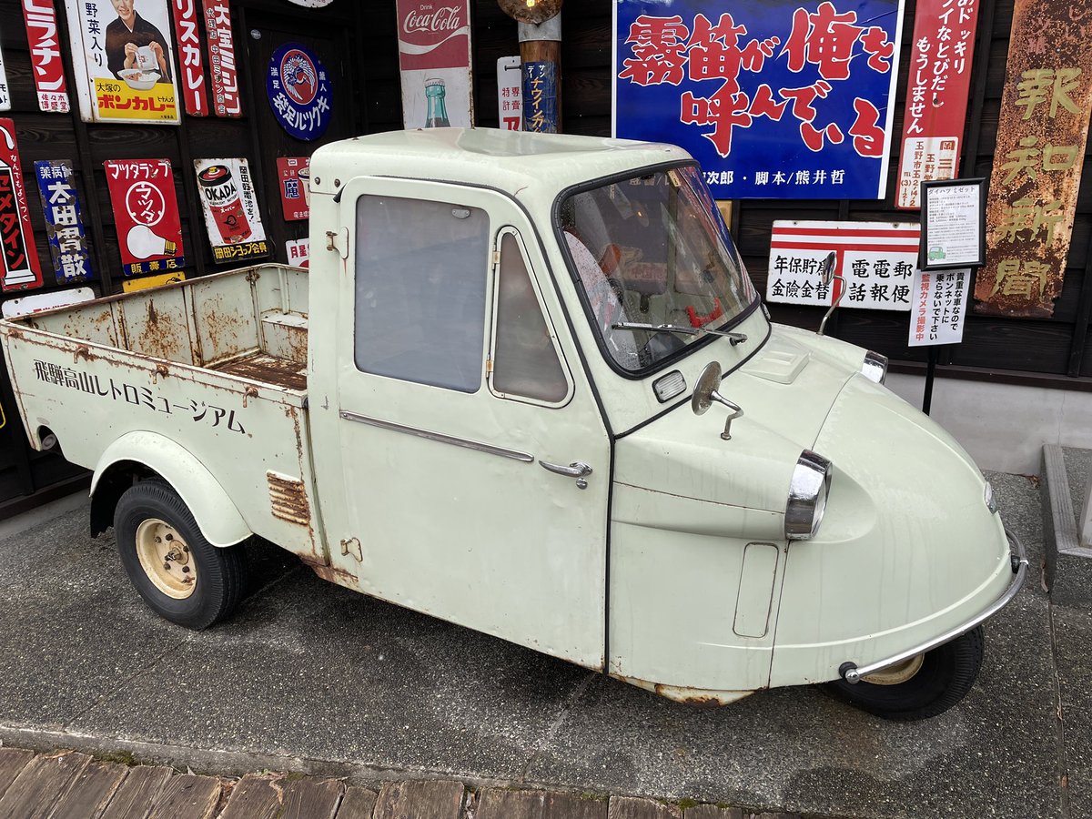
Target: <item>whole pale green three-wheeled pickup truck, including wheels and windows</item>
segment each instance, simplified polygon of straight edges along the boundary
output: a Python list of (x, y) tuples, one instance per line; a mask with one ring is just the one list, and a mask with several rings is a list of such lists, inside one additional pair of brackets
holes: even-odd
[(149, 605), (319, 575), (682, 702), (952, 705), (1026, 561), (886, 360), (772, 324), (695, 162), (434, 129), (319, 149), (310, 271), (0, 323)]

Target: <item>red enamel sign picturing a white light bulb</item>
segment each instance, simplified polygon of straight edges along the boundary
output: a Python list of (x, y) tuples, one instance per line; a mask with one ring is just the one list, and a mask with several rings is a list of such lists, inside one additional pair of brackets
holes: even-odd
[(186, 264), (169, 159), (107, 159), (106, 183), (127, 276)]

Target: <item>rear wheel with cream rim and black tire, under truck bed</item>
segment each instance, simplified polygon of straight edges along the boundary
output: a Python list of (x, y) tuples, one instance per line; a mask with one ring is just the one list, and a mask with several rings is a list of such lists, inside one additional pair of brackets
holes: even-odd
[(129, 580), (161, 617), (195, 630), (230, 617), (246, 578), (244, 545), (209, 543), (169, 485), (144, 480), (127, 489), (114, 531)]

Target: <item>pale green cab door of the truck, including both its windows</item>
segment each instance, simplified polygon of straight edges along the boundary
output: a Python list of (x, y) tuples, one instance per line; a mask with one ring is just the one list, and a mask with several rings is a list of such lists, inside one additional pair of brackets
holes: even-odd
[(610, 447), (531, 225), (500, 193), (416, 180), (358, 178), (340, 207), (344, 499), (324, 519), (354, 547), (335, 568), (602, 667)]

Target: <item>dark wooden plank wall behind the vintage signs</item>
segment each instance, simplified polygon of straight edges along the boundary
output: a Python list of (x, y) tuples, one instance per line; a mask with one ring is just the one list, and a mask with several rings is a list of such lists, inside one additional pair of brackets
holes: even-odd
[[(63, 23), (63, 2), (56, 0)], [(251, 32), (290, 33), (305, 41), (334, 44), (336, 58), (328, 68), (335, 73), (336, 127), (328, 139), (400, 128), (402, 103), (397, 69), (397, 20), (394, 0), (334, 0), (321, 10), (304, 9), (286, 0), (233, 0), (234, 33), (239, 57), (244, 117), (238, 120), (183, 117), (180, 127), (86, 124), (78, 114), (49, 115), (38, 111), (25, 28), (19, 3), (0, 4), (0, 47), (13, 97), (13, 110), (2, 116), (16, 123), (23, 174), (33, 185), (35, 159), (69, 158), (76, 168), (76, 188), (91, 238), (92, 259), (100, 275), (102, 293), (120, 289), (121, 262), (114, 218), (109, 207), (103, 161), (106, 158), (162, 158), (171, 161), (182, 211), (182, 240), (188, 275), (219, 270), (201, 222), (192, 159), (212, 156), (246, 156), (256, 179), (262, 180), (259, 200), (263, 223), (273, 240), (276, 261), (286, 261), (284, 240), (304, 236), (305, 223), (285, 223), (278, 201), (271, 195), (275, 185), (276, 156), (306, 155), (320, 143), (295, 143), (273, 123), (261, 84), (262, 40)], [(497, 126), (497, 58), (519, 54), (517, 25), (496, 0), (474, 0), (474, 69), (477, 122)], [(972, 74), (971, 112), (968, 117), (964, 176), (989, 176), (1005, 63), (1012, 15), (1012, 0), (983, 0), (980, 36)], [(898, 163), (902, 132), (903, 96), (906, 85), (914, 0), (906, 0), (900, 60), (899, 97), (892, 140), (891, 180)], [(62, 31), (63, 41), (67, 33)], [(612, 0), (570, 0), (562, 15), (562, 129), (568, 133), (610, 133)], [(62, 49), (70, 60), (68, 48)], [(70, 96), (75, 95), (69, 68)], [(256, 79), (257, 78), (257, 79)], [(941, 364), (965, 378), (986, 378), (1066, 389), (1092, 389), (1092, 344), (1088, 343), (1092, 314), (1092, 169), (1085, 157), (1085, 174), (1078, 199), (1078, 213), (1069, 254), (1065, 287), (1048, 320), (1016, 320), (972, 316), (964, 343), (948, 351)], [(778, 218), (906, 221), (913, 214), (895, 211), (891, 197), (879, 201), (778, 201), (745, 200), (735, 210), (733, 229), (751, 277), (764, 292), (770, 252), (770, 228)], [(31, 217), (37, 237), (47, 283), (52, 282), (48, 248), (44, 240), (41, 209), (29, 193)], [(47, 284), (44, 289), (56, 288)], [(774, 320), (802, 327), (818, 327), (819, 308), (771, 305)], [(890, 356), (894, 368), (915, 371), (925, 352), (910, 349), (903, 313), (842, 309), (831, 322), (833, 334)], [(44, 487), (64, 487), (80, 480), (81, 473), (60, 459), (31, 452), (15, 422), (7, 375), (0, 368), (0, 403), (8, 425), (0, 428), (0, 518), (26, 505), (28, 495), (43, 497)], [(8, 510), (5, 512), (5, 510)]]

